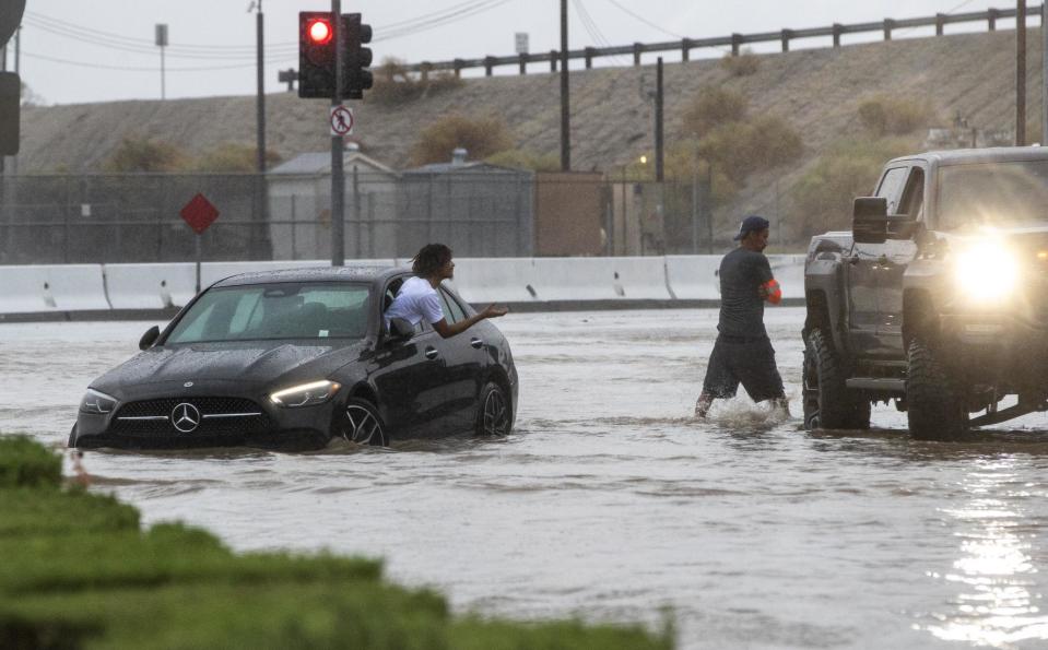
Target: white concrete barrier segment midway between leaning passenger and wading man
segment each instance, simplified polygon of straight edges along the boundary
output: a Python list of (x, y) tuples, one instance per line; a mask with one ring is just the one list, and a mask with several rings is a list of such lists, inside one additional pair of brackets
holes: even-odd
[(538, 258), (540, 300), (670, 300), (666, 261), (650, 258)]

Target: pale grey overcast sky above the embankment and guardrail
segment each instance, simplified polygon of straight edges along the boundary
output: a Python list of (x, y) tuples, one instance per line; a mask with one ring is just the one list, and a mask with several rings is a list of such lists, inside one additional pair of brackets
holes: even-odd
[[(274, 93), (284, 88), (276, 81), (278, 70), (297, 67), (297, 13), (330, 10), (331, 3), (261, 1), (266, 20), (266, 90)], [(160, 49), (154, 46), (154, 29), (157, 23), (166, 23), (168, 98), (254, 94), (256, 16), (254, 9), (249, 11), (251, 4), (251, 0), (27, 0), (19, 59), (22, 80), (47, 104), (160, 98)], [(570, 47), (820, 27), (835, 22), (916, 17), (991, 7), (1014, 9), (1015, 2), (569, 0)], [(511, 55), (517, 32), (529, 35), (533, 52), (560, 45), (560, 0), (344, 0), (342, 11), (361, 12), (364, 22), (373, 26), (376, 62), (385, 57), (417, 62)], [(1029, 24), (1037, 25), (1039, 21), (1031, 19)], [(999, 23), (999, 28), (1013, 27), (1014, 21)], [(956, 25), (947, 26), (946, 33), (985, 28), (985, 23)], [(895, 37), (928, 33), (899, 32)], [(844, 43), (871, 38), (875, 36), (850, 36)], [(792, 47), (824, 46), (827, 42), (799, 40)], [(7, 69), (13, 70), (14, 39), (8, 49)], [(695, 50), (692, 56), (721, 52)], [(655, 55), (647, 58), (653, 61)], [(666, 58), (672, 60), (674, 56), (667, 54)], [(629, 62), (620, 58), (598, 64)], [(533, 64), (533, 69), (549, 70), (541, 63)], [(515, 72), (515, 68), (508, 67), (498, 73)]]

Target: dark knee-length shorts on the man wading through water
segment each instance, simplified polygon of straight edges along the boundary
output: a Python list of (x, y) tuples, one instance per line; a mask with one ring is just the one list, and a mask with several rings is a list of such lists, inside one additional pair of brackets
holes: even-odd
[(786, 397), (775, 365), (775, 350), (767, 336), (717, 336), (703, 392), (718, 399), (733, 398), (740, 383), (754, 402)]

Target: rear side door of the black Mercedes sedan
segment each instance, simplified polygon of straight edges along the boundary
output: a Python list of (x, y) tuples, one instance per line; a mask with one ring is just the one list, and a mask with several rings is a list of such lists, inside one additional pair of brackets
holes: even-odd
[[(466, 320), (466, 308), (446, 287), (438, 288), (444, 317), (448, 323)], [(481, 382), (487, 363), (485, 342), (481, 328), (472, 327), (464, 332), (441, 341), (441, 354), (447, 367), (447, 401), (449, 417), (446, 433), (468, 430), (476, 416)]]

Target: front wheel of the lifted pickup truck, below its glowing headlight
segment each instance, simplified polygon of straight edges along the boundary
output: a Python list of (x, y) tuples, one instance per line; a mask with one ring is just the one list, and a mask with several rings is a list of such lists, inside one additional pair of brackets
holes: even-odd
[(954, 378), (920, 339), (910, 342), (908, 358), (906, 407), (910, 435), (919, 440), (962, 435), (968, 428), (968, 414)]

